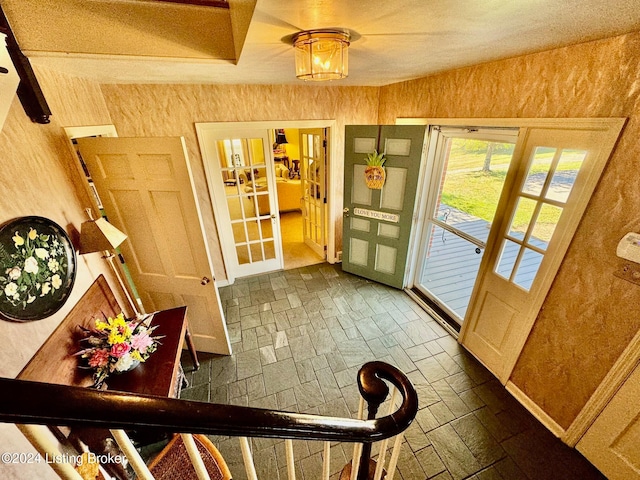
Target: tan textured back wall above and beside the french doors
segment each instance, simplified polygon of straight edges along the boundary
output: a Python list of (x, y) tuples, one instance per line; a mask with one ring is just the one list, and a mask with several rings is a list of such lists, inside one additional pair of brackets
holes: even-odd
[[(103, 85), (118, 135), (184, 136), (198, 200), (209, 238), (216, 278), (225, 277), (222, 253), (196, 136), (198, 122), (335, 120), (338, 152), (344, 151), (344, 126), (375, 123), (378, 88), (291, 85)], [(336, 159), (342, 178), (342, 157)], [(333, 191), (342, 211), (342, 185)], [(342, 249), (342, 215), (336, 223), (336, 248)]]

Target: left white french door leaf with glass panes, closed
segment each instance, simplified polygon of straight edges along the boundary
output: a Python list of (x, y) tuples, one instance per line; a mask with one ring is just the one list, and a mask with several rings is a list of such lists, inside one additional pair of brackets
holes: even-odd
[(227, 277), (283, 268), (269, 131), (196, 125)]

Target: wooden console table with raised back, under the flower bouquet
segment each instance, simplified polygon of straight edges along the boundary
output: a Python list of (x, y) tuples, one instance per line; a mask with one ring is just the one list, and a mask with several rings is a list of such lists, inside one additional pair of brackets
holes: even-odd
[[(80, 350), (79, 341), (83, 333), (78, 325), (94, 327), (95, 319), (115, 317), (122, 309), (118, 305), (109, 284), (101, 275), (89, 287), (78, 303), (73, 307), (65, 319), (53, 333), (45, 340), (40, 349), (18, 375), (20, 380), (34, 382), (55, 383), (80, 387), (93, 385), (93, 371), (78, 368), (78, 357), (74, 354)], [(193, 364), (199, 367), (198, 357), (191, 336), (187, 328), (187, 307), (177, 307), (162, 310), (153, 314), (151, 325), (157, 325), (153, 336), (162, 336), (157, 350), (137, 368), (122, 374), (110, 375), (107, 380), (109, 390), (130, 392), (145, 395), (176, 397), (180, 392), (180, 356), (183, 341), (193, 359)], [(29, 441), (38, 448), (40, 453), (46, 452), (46, 443), (42, 442), (44, 434), (39, 425), (18, 425)], [(71, 444), (78, 452), (81, 446), (70, 439), (80, 440), (88, 448), (99, 454), (115, 453), (110, 443), (108, 430), (99, 428), (81, 428), (50, 426), (50, 431), (58, 441)], [(61, 476), (71, 474), (73, 466), (65, 463), (52, 463), (51, 467)], [(107, 472), (115, 478), (126, 479), (127, 473), (122, 465), (110, 463), (103, 465)]]

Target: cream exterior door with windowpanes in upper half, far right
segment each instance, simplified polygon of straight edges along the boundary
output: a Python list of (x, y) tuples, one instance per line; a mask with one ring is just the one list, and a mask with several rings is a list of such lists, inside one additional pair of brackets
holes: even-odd
[[(529, 336), (623, 125), (621, 119), (549, 121), (523, 128), (517, 169), (460, 333), (503, 383)], [(494, 238), (491, 238), (491, 237)]]

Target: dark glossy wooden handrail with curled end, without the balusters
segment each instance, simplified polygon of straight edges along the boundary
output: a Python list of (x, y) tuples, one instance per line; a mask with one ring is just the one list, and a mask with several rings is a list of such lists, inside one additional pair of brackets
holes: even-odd
[[(402, 401), (395, 411), (376, 418), (389, 394), (386, 382)], [(418, 397), (407, 377), (383, 362), (369, 362), (360, 369), (358, 388), (361, 410), (364, 402), (368, 406), (366, 420), (0, 378), (0, 422), (351, 442), (362, 444), (353, 464), (357, 479), (365, 480), (370, 478), (371, 444), (406, 430), (418, 411)]]

